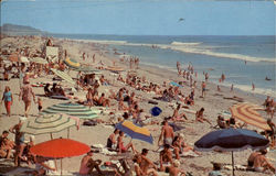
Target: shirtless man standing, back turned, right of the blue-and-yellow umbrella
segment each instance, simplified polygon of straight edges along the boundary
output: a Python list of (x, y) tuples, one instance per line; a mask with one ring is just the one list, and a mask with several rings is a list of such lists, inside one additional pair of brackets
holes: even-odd
[(164, 120), (162, 123), (163, 123), (163, 127), (161, 129), (161, 134), (160, 134), (160, 138), (158, 141), (158, 145), (160, 145), (160, 141), (162, 138), (163, 138), (163, 145), (166, 145), (166, 144), (171, 145), (172, 140), (174, 138), (173, 129), (172, 129), (172, 127), (169, 125), (167, 120)]

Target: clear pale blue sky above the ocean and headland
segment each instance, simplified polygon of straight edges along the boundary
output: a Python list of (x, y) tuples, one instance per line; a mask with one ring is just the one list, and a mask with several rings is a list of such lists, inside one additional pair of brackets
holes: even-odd
[(275, 11), (273, 1), (251, 0), (4, 0), (1, 25), (66, 34), (275, 35)]

